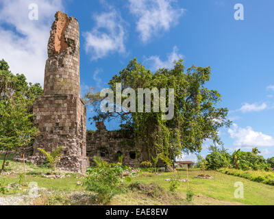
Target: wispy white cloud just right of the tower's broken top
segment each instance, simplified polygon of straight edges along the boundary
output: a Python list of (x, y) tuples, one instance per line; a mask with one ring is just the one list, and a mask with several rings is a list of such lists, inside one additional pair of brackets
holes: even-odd
[[(123, 20), (116, 10), (94, 16), (96, 25), (84, 33), (86, 51), (92, 60), (105, 57), (108, 53), (125, 53), (125, 29)], [(102, 31), (104, 29), (104, 31)]]

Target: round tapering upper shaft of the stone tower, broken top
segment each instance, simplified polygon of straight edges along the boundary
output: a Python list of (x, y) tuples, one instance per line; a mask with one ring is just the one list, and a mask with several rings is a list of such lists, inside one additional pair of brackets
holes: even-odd
[(49, 57), (45, 66), (45, 95), (80, 95), (79, 47), (77, 19), (56, 12), (47, 47)]

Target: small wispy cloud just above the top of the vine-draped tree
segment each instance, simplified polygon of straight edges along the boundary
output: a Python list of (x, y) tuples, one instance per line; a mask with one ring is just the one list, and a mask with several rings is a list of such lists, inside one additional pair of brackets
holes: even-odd
[(162, 61), (158, 55), (153, 55), (145, 58), (145, 64), (151, 68), (151, 70), (158, 70), (159, 68), (173, 68), (174, 61), (178, 61), (184, 57), (184, 55), (177, 53), (177, 47), (173, 47), (173, 51), (167, 55), (167, 60)]

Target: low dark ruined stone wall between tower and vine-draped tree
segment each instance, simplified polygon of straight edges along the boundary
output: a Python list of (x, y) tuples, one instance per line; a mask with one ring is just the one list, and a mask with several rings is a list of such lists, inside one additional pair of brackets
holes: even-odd
[(96, 123), (97, 130), (87, 133), (87, 156), (90, 164), (93, 164), (95, 155), (106, 162), (117, 162), (118, 154), (123, 155), (123, 164), (136, 166), (138, 163), (148, 160), (148, 151), (142, 149), (136, 153), (133, 139), (125, 137), (120, 131), (108, 131), (102, 122)]

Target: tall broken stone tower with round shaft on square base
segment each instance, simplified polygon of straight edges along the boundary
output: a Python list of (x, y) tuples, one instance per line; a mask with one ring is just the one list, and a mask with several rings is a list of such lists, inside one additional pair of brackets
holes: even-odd
[(34, 141), (34, 160), (41, 163), (38, 148), (51, 152), (63, 146), (58, 168), (85, 172), (86, 107), (80, 99), (79, 24), (62, 12), (55, 14), (47, 47), (44, 94), (34, 102), (34, 124), (40, 133)]

